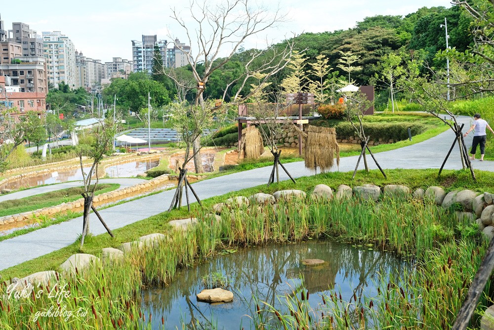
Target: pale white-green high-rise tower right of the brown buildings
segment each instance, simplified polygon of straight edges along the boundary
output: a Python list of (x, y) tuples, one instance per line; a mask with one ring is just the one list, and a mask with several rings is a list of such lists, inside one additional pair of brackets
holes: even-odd
[(63, 81), (70, 88), (76, 88), (76, 51), (69, 37), (60, 31), (43, 32), (43, 54), (46, 58), (48, 81), (55, 87)]

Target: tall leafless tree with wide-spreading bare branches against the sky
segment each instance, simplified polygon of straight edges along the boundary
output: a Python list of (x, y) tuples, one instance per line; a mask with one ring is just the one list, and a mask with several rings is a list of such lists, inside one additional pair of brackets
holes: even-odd
[[(189, 11), (190, 14), (187, 16), (192, 19), (192, 24), (186, 23), (181, 13), (175, 9), (172, 10), (171, 18), (185, 32), (189, 45), (196, 44), (197, 48), (186, 48), (180, 44), (176, 44), (175, 47), (185, 54), (197, 82), (194, 104), (200, 104), (204, 109), (203, 92), (211, 74), (228, 63), (247, 39), (278, 26), (286, 20), (286, 15), (279, 9), (272, 11), (262, 7), (254, 8), (249, 0), (226, 0), (220, 4), (207, 4), (205, 0), (191, 1)], [(225, 48), (228, 48), (226, 55), (224, 55)], [(195, 56), (193, 51), (196, 53)], [(281, 64), (286, 62), (281, 61)], [(198, 69), (199, 65), (204, 67), (204, 72)], [(270, 65), (268, 64), (267, 67)], [(276, 71), (276, 68), (271, 71)], [(173, 79), (172, 75), (168, 77)], [(245, 76), (244, 79), (247, 81), (248, 77)], [(177, 83), (178, 81), (175, 80), (175, 84)], [(196, 139), (193, 142), (194, 165), (196, 172), (202, 173), (199, 148), (200, 141)]]

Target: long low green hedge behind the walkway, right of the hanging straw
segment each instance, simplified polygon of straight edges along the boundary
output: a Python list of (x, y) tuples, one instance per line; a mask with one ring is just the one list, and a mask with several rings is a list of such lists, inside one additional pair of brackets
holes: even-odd
[[(334, 126), (338, 137), (355, 136), (355, 129), (348, 122), (339, 123)], [(382, 139), (384, 141), (402, 141), (408, 139), (408, 129), (411, 129), (412, 136), (421, 134), (430, 128), (430, 125), (422, 123), (364, 123), (364, 131), (371, 140)]]

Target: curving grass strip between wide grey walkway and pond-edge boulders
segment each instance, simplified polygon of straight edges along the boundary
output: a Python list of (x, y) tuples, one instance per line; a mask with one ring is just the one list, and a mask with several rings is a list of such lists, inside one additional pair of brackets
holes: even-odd
[[(477, 183), (472, 182), (469, 172), (466, 171), (443, 171), (443, 175), (439, 180), (437, 179), (436, 169), (387, 170), (387, 179), (384, 179), (379, 171), (371, 171), (370, 173), (359, 171), (355, 180), (352, 180), (352, 173), (350, 172), (332, 172), (299, 178), (296, 180), (296, 184), (293, 184), (291, 181), (284, 181), (279, 184), (273, 184), (270, 187), (262, 185), (208, 198), (202, 202), (204, 208), (210, 209), (213, 204), (224, 201), (226, 198), (232, 196), (249, 196), (256, 192), (272, 193), (280, 189), (301, 189), (306, 192), (310, 192), (318, 184), (326, 184), (332, 189), (336, 189), (340, 184), (360, 186), (369, 183), (376, 184), (381, 187), (388, 184), (400, 184), (406, 185), (411, 189), (427, 188), (428, 186), (437, 185), (444, 187), (447, 191), (460, 188), (472, 189), (479, 192), (493, 191), (492, 182), (494, 182), (494, 173), (485, 171), (475, 172), (478, 180)], [(200, 206), (197, 203), (194, 203), (190, 214), (196, 214), (198, 207)], [(10, 277), (21, 278), (39, 271), (54, 270), (57, 269), (57, 267), (69, 256), (75, 253), (90, 253), (98, 256), (101, 253), (101, 249), (104, 247), (118, 247), (123, 242), (135, 240), (143, 235), (168, 232), (169, 229), (166, 226), (167, 222), (174, 219), (187, 218), (190, 214), (187, 212), (186, 207), (182, 207), (179, 210), (173, 210), (171, 212), (164, 212), (114, 230), (114, 238), (110, 237), (108, 234), (91, 237), (86, 241), (86, 244), (82, 249), (80, 249), (79, 243), (75, 242), (60, 250), (0, 271), (0, 275), (2, 279), (8, 279)]]

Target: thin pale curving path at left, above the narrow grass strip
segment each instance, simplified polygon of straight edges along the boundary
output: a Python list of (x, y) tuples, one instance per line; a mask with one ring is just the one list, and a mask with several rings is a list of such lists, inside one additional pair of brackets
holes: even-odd
[[(117, 190), (120, 189), (125, 189), (128, 187), (132, 187), (135, 185), (138, 185), (142, 182), (145, 182), (147, 180), (145, 179), (137, 179), (137, 178), (115, 178), (115, 179), (101, 179), (99, 181), (100, 184), (119, 184), (120, 187)], [(62, 189), (67, 189), (67, 188), (75, 188), (75, 187), (82, 187), (84, 184), (82, 181), (71, 181), (71, 182), (64, 182), (61, 184), (55, 184), (55, 185), (48, 185), (48, 186), (42, 186), (42, 187), (37, 187), (37, 188), (32, 188), (32, 189), (25, 189), (17, 192), (12, 192), (6, 195), (0, 195), (0, 202), (3, 202), (5, 200), (11, 200), (11, 199), (20, 199), (24, 197), (30, 197), (34, 195), (39, 195), (41, 193), (46, 193), (46, 192), (51, 192), (51, 191), (57, 191), (57, 190), (62, 190)]]

